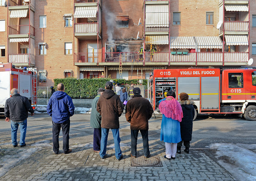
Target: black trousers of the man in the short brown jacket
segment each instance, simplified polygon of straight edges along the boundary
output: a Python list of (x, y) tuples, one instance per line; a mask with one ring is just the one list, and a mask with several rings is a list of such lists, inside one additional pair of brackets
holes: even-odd
[(131, 130), (131, 155), (135, 157), (137, 156), (137, 139), (139, 131), (141, 131), (143, 140), (144, 156), (148, 157), (150, 154), (148, 145), (148, 130)]

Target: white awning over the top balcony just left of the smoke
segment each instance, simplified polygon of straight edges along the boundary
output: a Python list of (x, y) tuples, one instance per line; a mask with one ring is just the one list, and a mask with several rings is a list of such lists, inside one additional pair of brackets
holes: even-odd
[(74, 18), (96, 18), (97, 6), (75, 7)]

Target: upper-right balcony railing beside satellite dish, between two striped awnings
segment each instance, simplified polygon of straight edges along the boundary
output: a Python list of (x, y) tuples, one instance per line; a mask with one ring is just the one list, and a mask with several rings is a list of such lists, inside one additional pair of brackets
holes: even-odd
[(248, 21), (225, 21), (224, 24), (225, 31), (249, 31)]

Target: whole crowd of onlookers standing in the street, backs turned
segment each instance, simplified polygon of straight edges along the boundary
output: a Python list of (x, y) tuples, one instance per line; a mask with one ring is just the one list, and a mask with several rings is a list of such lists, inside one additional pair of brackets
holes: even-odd
[[(115, 92), (114, 92), (115, 87)], [(24, 147), (28, 112), (34, 115), (28, 99), (19, 94), (17, 89), (11, 90), (11, 97), (5, 103), (5, 121), (11, 120), (11, 138), (14, 147), (17, 143), (17, 130), (20, 125), (20, 147)], [(128, 100), (129, 96), (129, 100)], [(180, 94), (180, 102), (176, 100), (175, 92), (170, 90), (166, 98), (160, 100), (159, 110), (163, 114), (160, 140), (165, 142), (166, 155), (164, 158), (175, 159), (176, 153), (181, 153), (182, 143), (189, 153), (192, 138), (193, 118), (195, 115), (193, 101), (186, 93)], [(128, 100), (128, 101), (127, 101)], [(126, 107), (125, 107), (126, 106)], [(105, 89), (99, 88), (98, 95), (92, 101), (90, 126), (94, 128), (93, 150), (99, 153), (100, 158), (106, 157), (106, 146), (109, 130), (111, 129), (115, 143), (115, 157), (119, 161), (123, 158), (120, 149), (119, 117), (125, 108), (125, 118), (131, 124), (131, 157), (137, 157), (137, 139), (141, 132), (144, 157), (151, 157), (148, 141), (149, 119), (153, 114), (150, 102), (141, 96), (141, 90), (131, 85), (121, 88), (112, 82), (105, 83)], [(75, 107), (72, 99), (65, 93), (65, 86), (60, 83), (57, 91), (53, 92), (47, 105), (47, 113), (52, 118), (53, 151), (59, 153), (60, 129), (63, 133), (63, 152), (72, 152), (69, 149), (70, 116), (74, 115)]]

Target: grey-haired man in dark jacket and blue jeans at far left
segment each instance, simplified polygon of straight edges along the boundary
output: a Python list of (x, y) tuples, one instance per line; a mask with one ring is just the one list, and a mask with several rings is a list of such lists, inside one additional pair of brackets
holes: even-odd
[(18, 89), (10, 91), (11, 97), (5, 101), (5, 121), (11, 125), (11, 141), (13, 147), (17, 147), (17, 131), (20, 125), (20, 147), (25, 147), (25, 138), (27, 131), (28, 111), (31, 116), (34, 110), (30, 105), (28, 98), (21, 96)]

